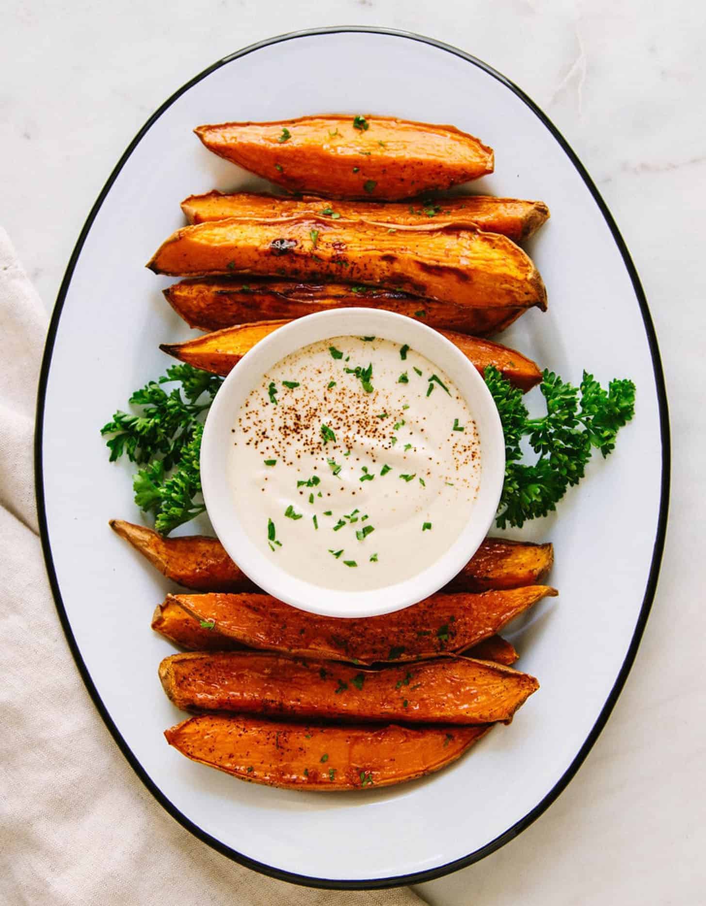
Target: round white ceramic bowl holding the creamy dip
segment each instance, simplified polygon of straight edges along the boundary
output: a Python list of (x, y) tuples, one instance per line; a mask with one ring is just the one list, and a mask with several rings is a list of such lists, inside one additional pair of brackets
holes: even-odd
[[(311, 343), (340, 336), (375, 334), (407, 343), (442, 368), (466, 401), (480, 442), (481, 477), (470, 517), (461, 533), (433, 564), (403, 582), (366, 591), (325, 588), (286, 572), (247, 533), (253, 513), (237, 505), (228, 481), (232, 429), (243, 401), (263, 375), (285, 356)], [(400, 314), (372, 308), (343, 308), (309, 314), (279, 328), (243, 355), (225, 378), (205, 422), (201, 444), (201, 481), (215, 533), (236, 564), (263, 591), (302, 611), (334, 617), (391, 613), (433, 594), (468, 563), (492, 525), (501, 497), (505, 442), (501, 420), (481, 374), (441, 333)]]

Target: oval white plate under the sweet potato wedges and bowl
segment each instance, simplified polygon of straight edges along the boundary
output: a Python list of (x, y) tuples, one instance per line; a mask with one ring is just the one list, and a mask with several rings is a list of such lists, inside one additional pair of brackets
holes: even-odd
[[(203, 149), (199, 123), (320, 111), (453, 123), (496, 151), (474, 191), (542, 198), (552, 217), (529, 244), (549, 292), (504, 334), (564, 378), (585, 367), (631, 377), (637, 414), (559, 512), (528, 525), (556, 546), (560, 597), (511, 635), (541, 689), (441, 773), (366, 795), (248, 785), (187, 761), (162, 730), (183, 715), (149, 630), (169, 583), (108, 528), (140, 520), (126, 466), (99, 436), (129, 393), (186, 338), (144, 268), (183, 223), (178, 202), (262, 185)], [(81, 232), (53, 313), (37, 421), (37, 497), (57, 608), (79, 670), (130, 764), (174, 817), (262, 872), (320, 886), (429, 880), (510, 840), (553, 801), (596, 740), (644, 629), (662, 554), (669, 438), (659, 354), (625, 245), (586, 171), (549, 120), (497, 72), (415, 35), (362, 28), (285, 35), (215, 63), (170, 98), (120, 159)], [(193, 526), (188, 530), (193, 531)]]

